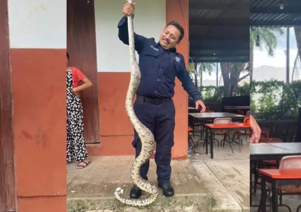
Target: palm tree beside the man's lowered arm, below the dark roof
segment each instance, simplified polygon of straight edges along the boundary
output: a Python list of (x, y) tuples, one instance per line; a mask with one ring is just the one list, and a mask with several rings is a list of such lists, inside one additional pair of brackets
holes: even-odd
[[(195, 86), (197, 88), (197, 76), (200, 77), (200, 86), (203, 82), (203, 72), (208, 72), (209, 75), (212, 74), (214, 63), (189, 63), (189, 73), (194, 75)], [(198, 69), (196, 70), (196, 67)]]

